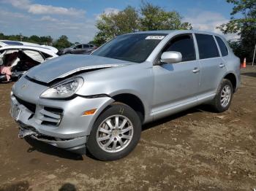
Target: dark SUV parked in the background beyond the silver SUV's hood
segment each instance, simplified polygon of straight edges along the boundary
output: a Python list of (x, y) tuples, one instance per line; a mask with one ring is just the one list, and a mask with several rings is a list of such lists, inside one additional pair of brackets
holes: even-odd
[(59, 50), (57, 54), (91, 54), (96, 49), (97, 47), (94, 44), (73, 44), (71, 47)]

